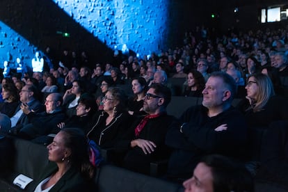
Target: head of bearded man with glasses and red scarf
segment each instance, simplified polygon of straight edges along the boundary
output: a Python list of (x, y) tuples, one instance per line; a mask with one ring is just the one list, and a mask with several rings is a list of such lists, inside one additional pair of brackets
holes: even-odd
[(161, 83), (154, 83), (147, 90), (143, 102), (143, 111), (153, 115), (161, 111), (166, 111), (166, 106), (170, 103), (171, 91)]

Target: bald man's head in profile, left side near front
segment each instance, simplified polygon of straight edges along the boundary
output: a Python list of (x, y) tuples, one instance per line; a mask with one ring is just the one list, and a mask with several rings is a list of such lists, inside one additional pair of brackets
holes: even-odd
[(60, 93), (51, 93), (45, 99), (46, 113), (53, 113), (61, 109), (63, 99)]

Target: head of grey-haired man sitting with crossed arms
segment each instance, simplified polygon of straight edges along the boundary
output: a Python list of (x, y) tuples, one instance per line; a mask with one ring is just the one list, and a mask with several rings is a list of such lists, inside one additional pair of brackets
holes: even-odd
[[(203, 106), (209, 110), (219, 110), (230, 107), (236, 93), (237, 86), (234, 79), (225, 72), (214, 72), (205, 84), (203, 94)], [(221, 111), (222, 110), (222, 111)]]

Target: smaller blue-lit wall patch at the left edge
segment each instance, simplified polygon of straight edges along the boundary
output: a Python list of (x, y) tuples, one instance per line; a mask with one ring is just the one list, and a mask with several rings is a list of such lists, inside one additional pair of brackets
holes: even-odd
[[(22, 60), (22, 64), (31, 67), (31, 59), (37, 47), (23, 38), (19, 33), (6, 26), (0, 21), (0, 68), (3, 69), (4, 61), (10, 63), (13, 69), (17, 67), (17, 58)], [(40, 52), (42, 54), (42, 52)]]

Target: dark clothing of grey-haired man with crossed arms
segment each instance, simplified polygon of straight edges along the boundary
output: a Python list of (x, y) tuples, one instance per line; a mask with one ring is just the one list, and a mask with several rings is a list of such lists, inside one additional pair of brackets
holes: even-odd
[[(223, 124), (227, 124), (227, 130), (214, 130)], [(208, 154), (241, 157), (246, 132), (243, 115), (233, 107), (209, 118), (205, 106), (192, 106), (173, 122), (167, 133), (166, 144), (174, 149), (169, 159), (168, 175), (191, 177), (197, 163)]]

